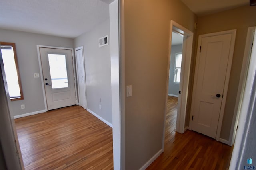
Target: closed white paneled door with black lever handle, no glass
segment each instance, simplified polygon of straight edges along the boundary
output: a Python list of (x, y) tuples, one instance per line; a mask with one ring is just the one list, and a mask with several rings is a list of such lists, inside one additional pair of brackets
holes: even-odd
[(216, 138), (220, 109), (224, 107), (221, 105), (232, 34), (202, 37), (201, 40), (196, 59), (190, 127)]

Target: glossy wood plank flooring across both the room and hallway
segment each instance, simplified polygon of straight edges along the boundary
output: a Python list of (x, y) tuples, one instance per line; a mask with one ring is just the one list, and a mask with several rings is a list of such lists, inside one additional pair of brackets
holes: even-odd
[[(175, 132), (177, 102), (168, 97), (164, 153), (147, 169), (228, 169), (232, 147), (194, 131)], [(26, 170), (113, 169), (112, 128), (80, 106), (15, 122)]]

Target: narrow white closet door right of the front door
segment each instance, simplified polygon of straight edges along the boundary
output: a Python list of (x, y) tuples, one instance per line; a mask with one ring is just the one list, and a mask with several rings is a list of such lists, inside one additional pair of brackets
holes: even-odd
[(87, 109), (84, 55), (83, 55), (82, 48), (76, 49), (76, 72), (77, 72), (77, 80), (78, 80), (79, 105), (84, 107), (84, 109)]

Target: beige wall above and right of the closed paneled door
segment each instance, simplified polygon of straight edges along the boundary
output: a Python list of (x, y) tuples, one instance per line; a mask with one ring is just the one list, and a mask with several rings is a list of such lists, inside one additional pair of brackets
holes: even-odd
[[(228, 96), (226, 100), (226, 107), (220, 134), (220, 138), (225, 140), (229, 139), (230, 128), (234, 114), (234, 106), (236, 103), (240, 71), (242, 68), (247, 29), (248, 27), (256, 25), (255, 16), (256, 6), (243, 6), (240, 8), (198, 18), (197, 35), (237, 29), (234, 56), (228, 86)], [(198, 36), (196, 38), (198, 39)]]

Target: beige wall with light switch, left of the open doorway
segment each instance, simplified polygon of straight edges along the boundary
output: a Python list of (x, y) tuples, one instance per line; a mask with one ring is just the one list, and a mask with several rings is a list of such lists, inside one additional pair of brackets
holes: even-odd
[(180, 0), (124, 2), (125, 86), (132, 85), (125, 98), (127, 170), (162, 149), (170, 20), (194, 32), (197, 16)]

